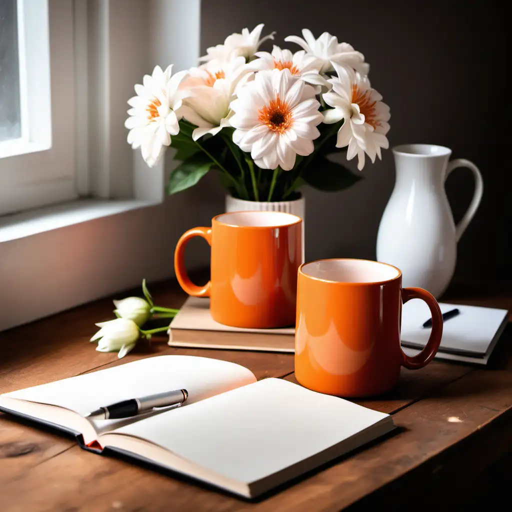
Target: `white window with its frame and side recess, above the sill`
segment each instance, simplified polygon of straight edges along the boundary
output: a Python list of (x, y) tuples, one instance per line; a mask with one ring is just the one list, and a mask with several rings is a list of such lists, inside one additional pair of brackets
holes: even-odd
[(163, 161), (148, 173), (126, 142), (126, 100), (157, 62), (197, 61), (199, 6), (0, 0), (0, 216), (79, 196), (163, 201)]

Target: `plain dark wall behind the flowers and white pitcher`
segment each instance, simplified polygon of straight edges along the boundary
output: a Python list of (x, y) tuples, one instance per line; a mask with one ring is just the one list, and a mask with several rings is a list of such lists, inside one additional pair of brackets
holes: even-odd
[[(504, 4), (501, 4), (504, 5)], [(275, 43), (309, 28), (349, 42), (370, 63), (372, 86), (391, 107), (390, 147), (403, 143), (448, 146), (484, 180), (480, 208), (458, 245), (455, 279), (509, 280), (510, 264), (510, 31), (498, 2), (202, 2), (201, 54), (232, 32), (265, 23)], [(506, 32), (507, 31), (507, 32)], [(270, 51), (272, 42), (262, 49)], [(354, 159), (348, 167), (356, 170)], [(367, 164), (364, 180), (339, 193), (303, 189), (306, 259), (375, 259), (382, 212), (394, 185), (391, 151)], [(446, 182), (457, 222), (473, 195), (471, 171), (457, 169)], [(425, 212), (428, 215), (428, 212)]]

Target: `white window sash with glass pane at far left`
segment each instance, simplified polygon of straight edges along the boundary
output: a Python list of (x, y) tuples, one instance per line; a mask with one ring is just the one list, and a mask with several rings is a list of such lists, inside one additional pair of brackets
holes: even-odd
[(73, 3), (0, 2), (0, 215), (75, 193)]

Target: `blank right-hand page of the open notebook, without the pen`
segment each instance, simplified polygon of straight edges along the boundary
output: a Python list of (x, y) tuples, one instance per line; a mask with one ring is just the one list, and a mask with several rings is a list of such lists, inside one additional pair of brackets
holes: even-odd
[(268, 378), (118, 433), (150, 440), (209, 470), (251, 483), (388, 418), (355, 403)]

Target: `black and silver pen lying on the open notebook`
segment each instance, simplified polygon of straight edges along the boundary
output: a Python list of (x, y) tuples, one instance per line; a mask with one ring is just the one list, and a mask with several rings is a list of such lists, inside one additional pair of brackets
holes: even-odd
[(113, 403), (110, 406), (100, 407), (87, 415), (89, 419), (120, 419), (130, 418), (152, 411), (157, 407), (180, 406), (188, 397), (186, 389), (166, 391), (156, 395), (144, 396), (142, 398), (130, 398), (122, 402)]

